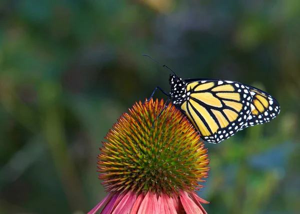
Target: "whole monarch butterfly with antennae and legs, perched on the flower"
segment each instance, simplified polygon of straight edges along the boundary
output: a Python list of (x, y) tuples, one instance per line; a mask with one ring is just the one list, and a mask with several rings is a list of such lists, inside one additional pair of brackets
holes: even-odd
[(218, 143), (248, 126), (268, 122), (280, 111), (273, 96), (253, 86), (212, 78), (182, 79), (161, 65), (171, 72), (171, 91), (167, 93), (157, 86), (150, 98), (156, 89), (169, 96), (166, 104), (171, 101), (185, 113), (208, 142)]

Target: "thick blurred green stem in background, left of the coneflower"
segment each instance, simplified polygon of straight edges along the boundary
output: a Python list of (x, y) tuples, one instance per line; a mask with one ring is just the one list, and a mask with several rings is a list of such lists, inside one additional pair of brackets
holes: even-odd
[(52, 154), (53, 162), (60, 176), (67, 200), (73, 210), (81, 210), (84, 205), (84, 195), (80, 181), (72, 164), (71, 155), (62, 125), (62, 110), (59, 106), (60, 86), (54, 82), (42, 85), (40, 91), (41, 126)]

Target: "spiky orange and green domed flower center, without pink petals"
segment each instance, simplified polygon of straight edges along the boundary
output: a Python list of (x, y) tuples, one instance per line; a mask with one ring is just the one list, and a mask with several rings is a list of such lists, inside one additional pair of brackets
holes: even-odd
[(99, 178), (107, 191), (197, 190), (207, 177), (207, 149), (189, 120), (163, 100), (135, 103), (106, 134), (98, 155)]

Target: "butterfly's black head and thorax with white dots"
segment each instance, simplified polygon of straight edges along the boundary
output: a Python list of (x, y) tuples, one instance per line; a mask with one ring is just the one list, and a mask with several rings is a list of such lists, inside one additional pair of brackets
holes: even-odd
[(174, 74), (170, 74), (169, 84), (171, 85), (170, 96), (173, 104), (180, 105), (187, 98), (185, 81)]

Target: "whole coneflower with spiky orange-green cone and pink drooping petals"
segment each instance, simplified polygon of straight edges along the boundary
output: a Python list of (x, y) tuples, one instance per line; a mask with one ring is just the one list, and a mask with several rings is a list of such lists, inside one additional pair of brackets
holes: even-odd
[(88, 212), (206, 213), (197, 195), (208, 176), (207, 149), (190, 121), (163, 100), (135, 103), (112, 126), (98, 155), (108, 195)]

